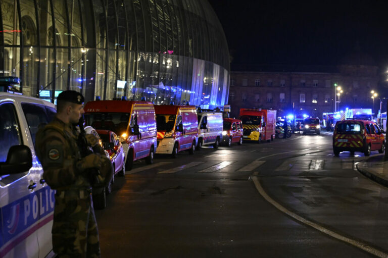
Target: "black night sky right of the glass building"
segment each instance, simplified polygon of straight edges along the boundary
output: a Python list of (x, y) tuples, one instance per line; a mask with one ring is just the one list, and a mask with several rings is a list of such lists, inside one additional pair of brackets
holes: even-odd
[[(235, 64), (336, 65), (356, 49), (388, 68), (388, 1), (209, 0)], [(384, 67), (384, 68), (383, 68)]]

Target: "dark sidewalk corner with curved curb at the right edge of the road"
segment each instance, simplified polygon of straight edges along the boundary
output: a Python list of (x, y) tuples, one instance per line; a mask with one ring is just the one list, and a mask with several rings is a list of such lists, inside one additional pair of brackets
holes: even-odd
[(384, 159), (384, 155), (358, 163), (357, 170), (376, 183), (388, 187), (388, 159)]

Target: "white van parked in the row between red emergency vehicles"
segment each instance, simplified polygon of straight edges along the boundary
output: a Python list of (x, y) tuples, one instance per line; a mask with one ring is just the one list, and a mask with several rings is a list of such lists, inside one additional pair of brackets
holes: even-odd
[(203, 145), (213, 144), (216, 149), (222, 140), (224, 120), (222, 113), (198, 110), (198, 144), (197, 149)]

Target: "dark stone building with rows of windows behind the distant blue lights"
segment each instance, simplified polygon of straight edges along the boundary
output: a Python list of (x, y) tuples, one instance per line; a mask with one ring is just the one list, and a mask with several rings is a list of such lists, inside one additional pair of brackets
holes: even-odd
[(380, 103), (370, 93), (377, 90), (377, 66), (346, 63), (330, 67), (246, 67), (250, 71), (232, 71), (228, 102), (231, 115), (238, 117), (240, 108), (261, 108), (277, 110), (278, 117), (293, 114), (322, 118), (325, 112), (372, 109), (373, 104), (377, 112)]

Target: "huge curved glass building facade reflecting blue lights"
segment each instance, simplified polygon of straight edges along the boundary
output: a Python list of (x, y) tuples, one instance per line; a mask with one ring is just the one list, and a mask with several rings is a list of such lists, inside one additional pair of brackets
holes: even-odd
[(227, 102), (229, 54), (207, 0), (2, 0), (0, 73), (25, 95), (55, 102)]

